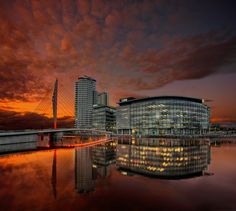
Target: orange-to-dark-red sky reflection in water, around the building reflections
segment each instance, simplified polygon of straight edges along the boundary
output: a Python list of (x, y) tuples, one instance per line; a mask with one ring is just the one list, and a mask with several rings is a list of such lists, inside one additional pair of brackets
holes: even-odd
[(111, 175), (97, 179), (95, 192), (75, 191), (74, 149), (57, 150), (57, 199), (51, 186), (54, 151), (12, 154), (0, 158), (1, 208), (55, 209), (236, 209), (236, 145), (212, 148), (208, 171), (213, 176), (158, 180)]

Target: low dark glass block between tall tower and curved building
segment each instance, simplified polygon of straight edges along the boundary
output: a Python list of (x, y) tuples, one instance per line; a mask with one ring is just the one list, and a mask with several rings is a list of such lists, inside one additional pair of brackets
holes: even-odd
[(115, 131), (115, 108), (110, 106), (93, 106), (92, 124), (97, 130)]

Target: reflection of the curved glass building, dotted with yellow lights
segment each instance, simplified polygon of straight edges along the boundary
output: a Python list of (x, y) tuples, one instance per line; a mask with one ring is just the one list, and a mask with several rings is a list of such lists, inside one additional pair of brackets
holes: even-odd
[(210, 160), (206, 140), (132, 139), (119, 140), (117, 166), (159, 177), (184, 177), (202, 174)]

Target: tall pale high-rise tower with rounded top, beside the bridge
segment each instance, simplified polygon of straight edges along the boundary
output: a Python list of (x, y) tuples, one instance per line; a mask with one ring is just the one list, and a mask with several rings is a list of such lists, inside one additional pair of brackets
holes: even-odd
[(97, 102), (96, 80), (83, 76), (75, 83), (75, 127), (92, 127), (93, 105)]

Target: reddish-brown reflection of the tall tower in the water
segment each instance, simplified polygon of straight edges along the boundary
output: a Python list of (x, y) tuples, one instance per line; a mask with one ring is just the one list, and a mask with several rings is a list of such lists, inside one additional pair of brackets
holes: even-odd
[(75, 188), (79, 193), (87, 193), (95, 189), (90, 148), (75, 149)]

